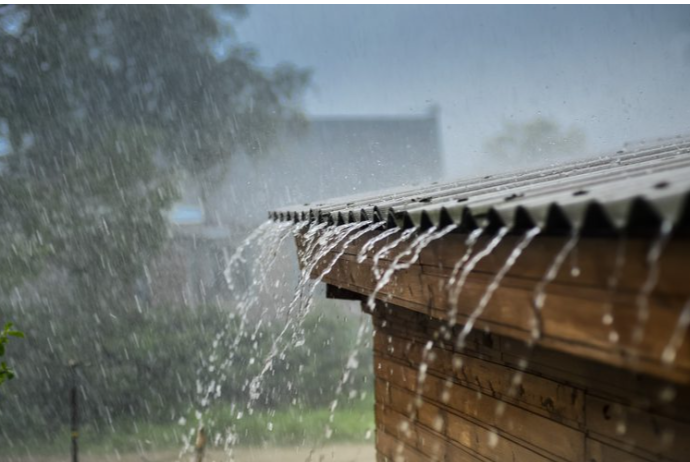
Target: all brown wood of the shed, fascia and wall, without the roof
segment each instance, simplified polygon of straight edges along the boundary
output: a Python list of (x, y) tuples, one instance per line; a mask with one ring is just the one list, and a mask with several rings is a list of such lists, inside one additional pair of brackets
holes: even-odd
[[(328, 270), (323, 280), (330, 296), (366, 301), (372, 293), (371, 256), (397, 236), (358, 261), (371, 237), (333, 249), (314, 268), (314, 276)], [(447, 282), (466, 253), (465, 239), (449, 234), (431, 242), (376, 296), (379, 460), (690, 460), (690, 342), (673, 363), (662, 360), (690, 298), (690, 239), (671, 239), (650, 265), (654, 239), (583, 237), (546, 287), (543, 336), (530, 345), (535, 289), (568, 239), (537, 237), (458, 350), (459, 329), (521, 237), (507, 236), (469, 274), (458, 325), (448, 334)], [(409, 242), (399, 245), (379, 269), (408, 248)], [(642, 296), (650, 284), (649, 297)], [(647, 320), (640, 319), (642, 305)], [(604, 322), (607, 314), (612, 318)], [(640, 327), (644, 336), (635, 339)]]

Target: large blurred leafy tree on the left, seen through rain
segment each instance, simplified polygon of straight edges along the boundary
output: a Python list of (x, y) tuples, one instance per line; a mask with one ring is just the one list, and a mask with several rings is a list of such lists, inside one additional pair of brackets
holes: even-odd
[(137, 294), (168, 235), (175, 175), (218, 177), (234, 153), (258, 155), (300, 119), (308, 74), (261, 67), (235, 37), (245, 14), (0, 6), (0, 304), (29, 334), (17, 367), (34, 380), (14, 391), (44, 420), (61, 414), (68, 359), (112, 366), (91, 378), (101, 391), (134, 367), (122, 341), (135, 348), (132, 326), (149, 322)]

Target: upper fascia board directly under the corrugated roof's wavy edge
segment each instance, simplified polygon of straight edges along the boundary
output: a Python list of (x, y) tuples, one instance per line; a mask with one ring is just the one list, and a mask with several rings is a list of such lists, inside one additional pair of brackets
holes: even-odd
[[(371, 232), (351, 242), (344, 249), (344, 258), (354, 258), (362, 247), (378, 232)], [(375, 244), (367, 252), (368, 260), (399, 237), (394, 234)], [(442, 239), (431, 241), (420, 253), (419, 264), (432, 268), (452, 269), (467, 252), (467, 235), (450, 233)], [(477, 264), (478, 273), (495, 274), (506, 261), (508, 254), (521, 239), (519, 235), (505, 236), (490, 255)], [(617, 275), (617, 289), (623, 292), (636, 293), (649, 276), (647, 257), (654, 239), (650, 238), (608, 238), (582, 237), (567, 258), (565, 264), (555, 277), (555, 283), (573, 287), (609, 287), (611, 276)], [(472, 247), (473, 254), (486, 247), (491, 237), (480, 237)], [(520, 259), (508, 273), (533, 281), (543, 278), (558, 252), (564, 247), (568, 238), (562, 236), (537, 236), (527, 247)], [(409, 249), (413, 239), (402, 243), (381, 258), (385, 268), (399, 254)], [(298, 241), (299, 242), (299, 241)], [(336, 247), (337, 251), (342, 250)], [(687, 238), (671, 239), (667, 242), (658, 262), (659, 281), (656, 292), (669, 295), (690, 295), (686, 287), (682, 269), (690, 261), (690, 240)], [(575, 269), (575, 271), (573, 271)]]

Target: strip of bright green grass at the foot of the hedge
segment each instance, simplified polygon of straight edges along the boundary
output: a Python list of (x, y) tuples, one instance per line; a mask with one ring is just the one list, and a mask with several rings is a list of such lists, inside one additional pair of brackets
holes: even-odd
[[(330, 422), (329, 409), (286, 409), (244, 413), (230, 407), (208, 412), (209, 445), (218, 440), (222, 445), (228, 430), (237, 438), (239, 446), (297, 446), (320, 443), (363, 443), (371, 438), (374, 429), (373, 403), (370, 399), (339, 408)], [(149, 423), (118, 421), (112, 426), (96, 428), (84, 425), (80, 431), (80, 451), (86, 454), (115, 454), (135, 451), (182, 449), (185, 441), (192, 441), (194, 424), (179, 422)], [(11, 442), (5, 454), (67, 454), (70, 432), (67, 427), (52, 432), (50, 439), (32, 436)]]

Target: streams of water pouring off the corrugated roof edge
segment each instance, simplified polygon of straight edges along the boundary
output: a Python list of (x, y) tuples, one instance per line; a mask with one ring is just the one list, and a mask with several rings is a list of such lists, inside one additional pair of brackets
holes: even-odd
[[(249, 401), (245, 410), (238, 410), (238, 419), (241, 418), (245, 411), (249, 414), (253, 412), (253, 403), (259, 400), (264, 393), (263, 382), (266, 375), (277, 367), (282, 358), (285, 358), (291, 349), (300, 348), (304, 345), (304, 336), (307, 335), (307, 333), (304, 330), (303, 323), (310, 312), (315, 291), (324, 278), (336, 268), (345, 253), (354, 255), (358, 264), (365, 263), (365, 261), (371, 262), (370, 266), (364, 265), (365, 268), (370, 268), (374, 282), (374, 286), (369, 292), (365, 304), (368, 310), (373, 311), (376, 308), (377, 300), (386, 300), (390, 297), (390, 294), (395, 293), (395, 291), (399, 289), (399, 287), (392, 287), (389, 294), (383, 292), (393, 283), (396, 273), (404, 273), (406, 270), (413, 267), (413, 265), (418, 264), (424, 250), (431, 242), (456, 231), (458, 227), (456, 225), (450, 225), (439, 229), (432, 226), (424, 230), (420, 228), (405, 230), (399, 228), (384, 228), (384, 222), (370, 221), (349, 223), (339, 226), (329, 225), (327, 223), (317, 224), (308, 222), (264, 223), (236, 249), (232, 256), (226, 259), (227, 265), (224, 274), (228, 282), (228, 287), (233, 289), (238, 287), (234, 280), (234, 275), (241, 273), (241, 267), (247, 266), (250, 260), (253, 262), (251, 265), (248, 265), (252, 283), (246, 290), (237, 291), (237, 316), (240, 319), (240, 332), (243, 336), (252, 336), (256, 335), (259, 327), (255, 326), (254, 328), (250, 328), (248, 320), (250, 318), (255, 319), (255, 317), (250, 316), (249, 313), (252, 310), (258, 310), (260, 312), (260, 317), (266, 313), (266, 308), (260, 306), (258, 300), (260, 293), (270, 291), (270, 287), (267, 287), (267, 275), (271, 272), (271, 265), (275, 261), (276, 256), (287, 238), (294, 237), (299, 243), (297, 246), (297, 253), (301, 270), (299, 272), (297, 286), (291, 300), (277, 310), (278, 313), (285, 316), (284, 325), (279, 330), (278, 334), (271, 340), (269, 351), (263, 357), (256, 359), (256, 362), (260, 364), (260, 368), (258, 373), (246, 386)], [(635, 305), (639, 310), (638, 319), (641, 321), (646, 319), (644, 312), (645, 309), (648, 309), (647, 299), (650, 297), (657, 283), (659, 277), (659, 259), (670, 238), (671, 228), (672, 227), (668, 223), (665, 223), (658, 237), (651, 243), (647, 252), (646, 263), (648, 274), (635, 299)], [(490, 306), (491, 300), (496, 291), (501, 287), (504, 278), (510, 273), (516, 262), (540, 233), (541, 229), (535, 227), (516, 237), (512, 250), (508, 253), (505, 261), (496, 269), (492, 278), (486, 283), (486, 287), (471, 310), (468, 310), (467, 302), (464, 301), (465, 299), (462, 297), (463, 289), (466, 288), (477, 266), (499, 248), (499, 246), (505, 243), (506, 236), (509, 234), (509, 228), (499, 228), (493, 235), (489, 235), (483, 228), (478, 228), (465, 237), (462, 256), (454, 263), (443, 284), (443, 289), (447, 293), (448, 300), (446, 322), (442, 323), (439, 327), (439, 331), (432, 336), (437, 340), (426, 342), (421, 350), (421, 360), (417, 367), (415, 384), (416, 398), (412, 401), (412, 405), (408, 409), (409, 416), (412, 419), (417, 418), (417, 413), (424, 401), (423, 390), (429, 373), (429, 362), (435, 358), (435, 353), (433, 351), (437, 346), (435, 342), (449, 341), (452, 339), (454, 351), (458, 353), (463, 352), (470, 334), (475, 330), (475, 325), (482, 319), (485, 311)], [(482, 248), (477, 250), (476, 245), (482, 237), (485, 238), (485, 244)], [(515, 397), (518, 393), (523, 377), (528, 371), (532, 351), (544, 334), (543, 310), (546, 305), (548, 285), (556, 279), (563, 265), (568, 260), (568, 257), (571, 259), (571, 276), (580, 276), (580, 268), (577, 261), (577, 247), (580, 238), (578, 230), (573, 230), (570, 236), (565, 238), (562, 246), (558, 248), (553, 259), (547, 265), (541, 279), (535, 283), (531, 306), (533, 312), (533, 318), (531, 320), (532, 328), (528, 340), (526, 341), (528, 348), (514, 365), (512, 378), (508, 387), (503, 391), (506, 397)], [(357, 245), (354, 246), (354, 243)], [(350, 247), (353, 247), (354, 250), (348, 252)], [(611, 300), (615, 297), (626, 263), (626, 248), (627, 239), (625, 237), (619, 238), (612, 272), (606, 279), (605, 284), (610, 300), (603, 305), (604, 313), (602, 316), (602, 323), (605, 326), (610, 326), (611, 331), (609, 338), (613, 343), (617, 342), (618, 333), (613, 328), (614, 313)], [(253, 253), (257, 253), (257, 255), (252, 257)], [(397, 281), (397, 283), (399, 283), (399, 281)], [(467, 297), (467, 299), (469, 299), (469, 297)], [(460, 321), (461, 307), (463, 314), (462, 320)], [(263, 321), (259, 321), (259, 326), (262, 322)], [(459, 330), (455, 330), (454, 327), (458, 323), (461, 323), (462, 327)], [(680, 312), (675, 329), (671, 333), (667, 346), (660, 358), (664, 364), (670, 366), (675, 361), (677, 351), (683, 344), (688, 326), (690, 326), (690, 301), (684, 305)], [(454, 332), (456, 333), (453, 334)], [(336, 411), (339, 409), (340, 403), (344, 398), (343, 393), (345, 387), (350, 383), (353, 374), (359, 367), (359, 350), (368, 335), (370, 335), (370, 332), (367, 329), (367, 323), (365, 320), (362, 320), (357, 331), (355, 345), (350, 350), (345, 363), (342, 365), (342, 374), (337, 385), (333, 389), (333, 397), (329, 406), (328, 423), (324, 427), (323, 433), (326, 439), (330, 439), (333, 435), (332, 425), (336, 420)], [(222, 344), (224, 345), (223, 348), (229, 349), (229, 355), (222, 363), (221, 369), (223, 367), (232, 367), (234, 359), (233, 349), (239, 345), (239, 340), (235, 339), (229, 344), (227, 342), (218, 342), (218, 344)], [(219, 346), (218, 348), (221, 347)], [(219, 354), (220, 352), (215, 351), (213, 353), (214, 356), (218, 356)], [(463, 367), (462, 357), (455, 357), (452, 361), (452, 369), (457, 372)], [(217, 374), (212, 375), (212, 377), (213, 379), (206, 385), (199, 387), (199, 407), (202, 411), (200, 413), (200, 421), (202, 422), (204, 420), (204, 410), (208, 409), (211, 400), (219, 395), (223, 382)], [(447, 380), (443, 391), (444, 402), (446, 402), (452, 393), (452, 389), (453, 381)], [(503, 416), (505, 410), (505, 403), (498, 402), (495, 408), (496, 418)], [(272, 423), (269, 425), (273, 428)], [(407, 429), (401, 428), (400, 430), (405, 433), (409, 432), (411, 428), (408, 424)], [(498, 431), (499, 427), (492, 427), (487, 433), (487, 444), (489, 447), (495, 447), (500, 442)], [(229, 447), (232, 447), (238, 440), (239, 438), (237, 438), (237, 435), (233, 435), (232, 438), (226, 441), (226, 446), (229, 445)]]

